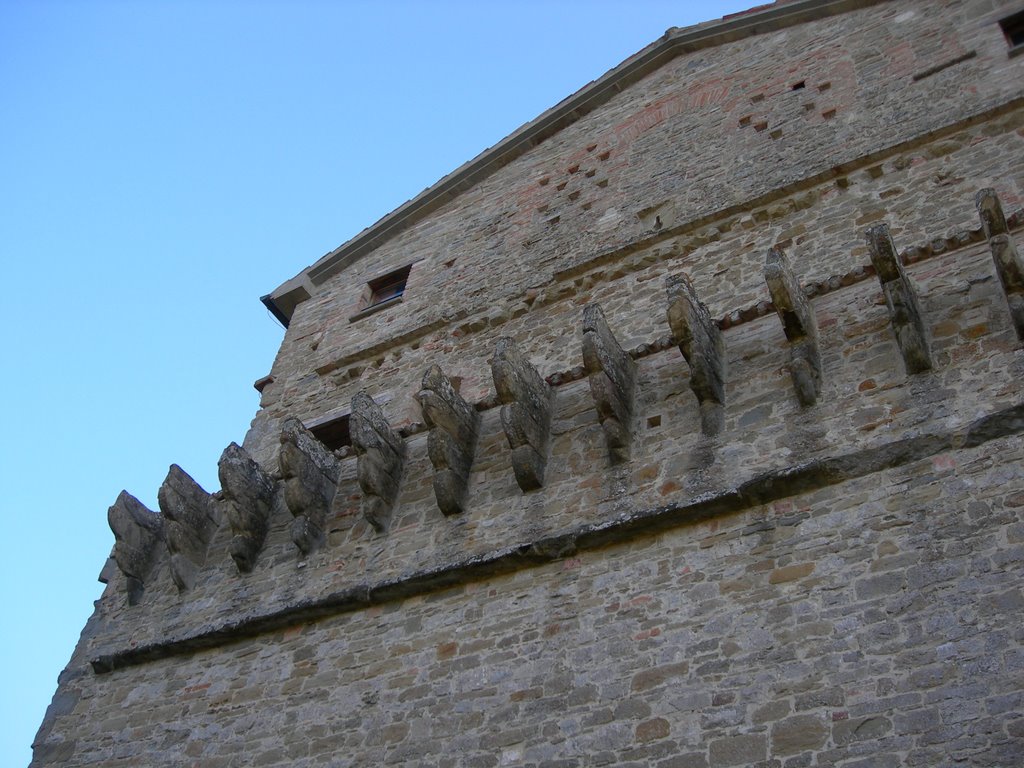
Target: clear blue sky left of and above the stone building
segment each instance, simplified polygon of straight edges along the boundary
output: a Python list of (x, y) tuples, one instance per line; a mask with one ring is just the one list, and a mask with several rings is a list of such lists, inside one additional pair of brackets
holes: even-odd
[(171, 463), (218, 487), (283, 336), (258, 297), (755, 2), (0, 0), (0, 765), (30, 760), (118, 493), (156, 509)]

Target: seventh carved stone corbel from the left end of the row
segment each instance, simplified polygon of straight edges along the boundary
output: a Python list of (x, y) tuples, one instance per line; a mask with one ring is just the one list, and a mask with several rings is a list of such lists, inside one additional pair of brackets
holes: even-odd
[(502, 404), (502, 427), (512, 449), (512, 471), (523, 492), (544, 485), (551, 433), (551, 387), (507, 336), (498, 340), (490, 375)]

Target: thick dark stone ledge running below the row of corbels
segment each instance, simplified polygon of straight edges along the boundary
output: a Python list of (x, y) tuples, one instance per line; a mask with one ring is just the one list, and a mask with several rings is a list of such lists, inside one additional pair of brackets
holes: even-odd
[(90, 664), (97, 674), (215, 648), (245, 638), (312, 622), (373, 605), (423, 595), (467, 582), (510, 573), (522, 568), (595, 550), (670, 528), (737, 512), (753, 506), (806, 494), (927, 459), (950, 450), (971, 449), (999, 437), (1024, 434), (1024, 403), (976, 419), (954, 430), (930, 432), (894, 440), (880, 447), (797, 464), (757, 475), (734, 487), (698, 495), (684, 503), (627, 511), (614, 518), (551, 534), (532, 542), (514, 544), (483, 555), (416, 570), (395, 579), (356, 584), (287, 608), (251, 614), (217, 627), (136, 647), (96, 655)]

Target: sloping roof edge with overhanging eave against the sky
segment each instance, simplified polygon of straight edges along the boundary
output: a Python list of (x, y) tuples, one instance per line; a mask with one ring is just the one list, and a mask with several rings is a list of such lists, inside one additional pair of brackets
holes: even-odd
[(292, 289), (296, 284), (304, 284), (310, 288), (323, 285), (366, 254), (430, 215), (442, 205), (455, 200), (492, 173), (525, 155), (545, 139), (601, 106), (616, 93), (676, 56), (883, 2), (888, 0), (792, 0), (785, 5), (760, 6), (692, 27), (672, 28), (658, 40), (562, 99), (494, 146), (464, 163), (260, 300), (287, 327), (298, 303), (312, 293), (303, 291), (306, 296), (295, 301)]

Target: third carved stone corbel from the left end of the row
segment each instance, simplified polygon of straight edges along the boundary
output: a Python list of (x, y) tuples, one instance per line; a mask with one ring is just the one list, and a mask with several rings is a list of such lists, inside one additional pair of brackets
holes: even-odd
[(239, 570), (248, 573), (266, 543), (274, 481), (236, 442), (220, 455), (217, 476), (220, 478), (220, 507), (232, 534), (227, 549)]

